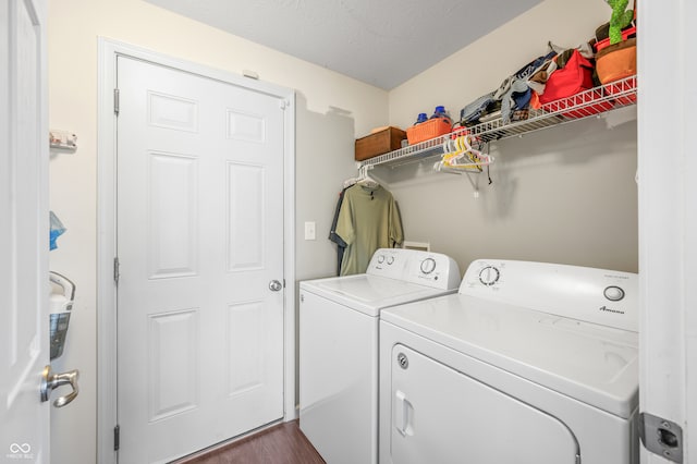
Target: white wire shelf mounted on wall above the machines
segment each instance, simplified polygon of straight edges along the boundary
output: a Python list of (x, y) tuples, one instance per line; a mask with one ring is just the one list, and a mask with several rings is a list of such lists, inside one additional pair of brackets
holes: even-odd
[(469, 134), (478, 143), (501, 141), (542, 129), (603, 114), (617, 108), (636, 105), (636, 75), (604, 84), (561, 100), (549, 102), (537, 110), (529, 110), (528, 118), (504, 124), (501, 118), (469, 127), (456, 129), (451, 134), (390, 151), (367, 159), (360, 166), (389, 166), (396, 168), (442, 156), (443, 144), (453, 134)]

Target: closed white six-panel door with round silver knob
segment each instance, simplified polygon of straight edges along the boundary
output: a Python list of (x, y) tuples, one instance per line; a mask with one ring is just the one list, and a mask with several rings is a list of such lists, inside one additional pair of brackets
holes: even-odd
[[(283, 417), (283, 105), (118, 59), (119, 460)], [(278, 282), (278, 284), (277, 284)]]

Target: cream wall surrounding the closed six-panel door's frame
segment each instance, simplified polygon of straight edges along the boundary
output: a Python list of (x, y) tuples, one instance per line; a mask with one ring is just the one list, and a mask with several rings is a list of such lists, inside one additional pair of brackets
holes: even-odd
[[(297, 91), (297, 279), (334, 272), (329, 234), (342, 181), (354, 175), (353, 141), (387, 120), (384, 90), (169, 13), (140, 0), (50, 0), (50, 126), (72, 131), (78, 149), (51, 157), (51, 208), (68, 227), (51, 268), (76, 282), (68, 345), (57, 371), (81, 370), (78, 399), (51, 411), (56, 464), (96, 462), (97, 37), (241, 73)], [(332, 107), (332, 108), (330, 108)], [(317, 241), (302, 240), (304, 221)]]

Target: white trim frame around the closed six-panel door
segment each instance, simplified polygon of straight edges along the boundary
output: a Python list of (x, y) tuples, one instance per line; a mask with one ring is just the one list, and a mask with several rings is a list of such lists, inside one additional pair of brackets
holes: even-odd
[(117, 425), (117, 58), (129, 57), (259, 91), (285, 105), (283, 131), (283, 420), (295, 410), (295, 91), (130, 44), (98, 38), (97, 103), (97, 456), (115, 463)]

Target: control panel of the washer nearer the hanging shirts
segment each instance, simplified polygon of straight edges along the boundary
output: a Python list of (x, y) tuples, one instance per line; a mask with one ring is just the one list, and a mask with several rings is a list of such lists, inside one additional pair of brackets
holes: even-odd
[(380, 248), (372, 255), (366, 273), (435, 289), (452, 290), (460, 285), (460, 267), (453, 258), (417, 249)]

